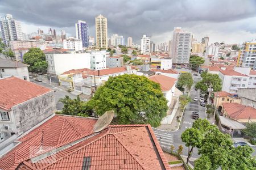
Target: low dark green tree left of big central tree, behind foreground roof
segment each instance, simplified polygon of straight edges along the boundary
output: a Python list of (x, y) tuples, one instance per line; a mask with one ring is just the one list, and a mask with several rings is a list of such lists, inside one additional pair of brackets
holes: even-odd
[(59, 100), (64, 104), (64, 108), (61, 111), (62, 114), (76, 115), (76, 116), (92, 116), (92, 108), (85, 101), (81, 101), (80, 97), (71, 99), (69, 96), (65, 96)]

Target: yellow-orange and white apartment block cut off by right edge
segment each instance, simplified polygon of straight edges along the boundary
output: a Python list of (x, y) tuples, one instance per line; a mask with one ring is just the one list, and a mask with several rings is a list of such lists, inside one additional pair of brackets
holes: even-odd
[(256, 70), (256, 39), (244, 42), (237, 58), (237, 66), (251, 67)]

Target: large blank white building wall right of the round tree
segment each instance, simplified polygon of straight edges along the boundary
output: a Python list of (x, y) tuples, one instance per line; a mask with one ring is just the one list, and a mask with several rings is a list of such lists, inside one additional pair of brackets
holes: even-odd
[(90, 69), (89, 53), (53, 54), (53, 59), (57, 75), (72, 69)]

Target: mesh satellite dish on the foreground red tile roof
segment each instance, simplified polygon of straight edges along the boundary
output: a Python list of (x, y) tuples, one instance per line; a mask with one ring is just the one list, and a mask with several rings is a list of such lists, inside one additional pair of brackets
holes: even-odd
[(102, 114), (102, 116), (98, 118), (96, 124), (94, 124), (93, 131), (98, 132), (106, 128), (113, 120), (114, 114), (115, 112), (113, 110), (106, 111), (104, 114)]

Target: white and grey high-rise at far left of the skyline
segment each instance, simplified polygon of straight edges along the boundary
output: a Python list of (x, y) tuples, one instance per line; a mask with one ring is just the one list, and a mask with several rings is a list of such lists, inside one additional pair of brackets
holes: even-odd
[(13, 15), (6, 14), (0, 20), (1, 36), (6, 45), (10, 41), (23, 40), (22, 28), (20, 22), (13, 18)]

